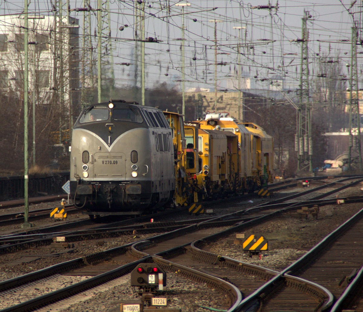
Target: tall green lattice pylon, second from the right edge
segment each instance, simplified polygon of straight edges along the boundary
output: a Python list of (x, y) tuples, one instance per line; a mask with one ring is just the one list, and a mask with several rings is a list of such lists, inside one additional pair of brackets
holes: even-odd
[(309, 33), (306, 21), (311, 18), (309, 11), (304, 10), (302, 18), (302, 38), (301, 42), (301, 66), (300, 66), (300, 88), (297, 90), (300, 97), (297, 112), (297, 134), (295, 135), (295, 151), (297, 151), (298, 165), (297, 171), (310, 171), (311, 156), (313, 155), (313, 141), (311, 138), (311, 105), (309, 101), (309, 60), (307, 42)]

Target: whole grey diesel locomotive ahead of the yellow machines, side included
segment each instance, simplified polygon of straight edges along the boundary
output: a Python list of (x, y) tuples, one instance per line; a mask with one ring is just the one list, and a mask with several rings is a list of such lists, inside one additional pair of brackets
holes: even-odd
[(70, 193), (88, 214), (135, 214), (175, 190), (172, 130), (161, 110), (111, 100), (85, 107), (72, 132)]

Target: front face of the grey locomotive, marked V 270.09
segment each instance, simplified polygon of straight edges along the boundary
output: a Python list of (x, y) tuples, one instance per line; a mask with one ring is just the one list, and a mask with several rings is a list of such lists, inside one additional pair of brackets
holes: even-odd
[(136, 105), (83, 109), (72, 133), (70, 190), (89, 215), (135, 214), (152, 200), (150, 129)]

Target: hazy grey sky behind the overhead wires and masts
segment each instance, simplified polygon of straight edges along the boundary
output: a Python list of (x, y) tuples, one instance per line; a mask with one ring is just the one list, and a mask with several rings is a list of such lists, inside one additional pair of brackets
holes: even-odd
[[(145, 2), (145, 37), (153, 37), (162, 41), (149, 43), (146, 46), (147, 87), (160, 82), (180, 85), (181, 79), (181, 7), (176, 3), (185, 1), (160, 0)], [(301, 25), (304, 10), (309, 11), (311, 18), (307, 23), (309, 29), (309, 61), (311, 69), (317, 66), (319, 57), (329, 56), (338, 60), (344, 66), (350, 62), (351, 45), (340, 40), (351, 39), (353, 18), (359, 23), (362, 20), (362, 0), (356, 1), (350, 8), (351, 1), (320, 0), (320, 1), (291, 1), (279, 0), (277, 9), (257, 9), (257, 5), (268, 5), (268, 1), (250, 0), (221, 1), (221, 0), (190, 0), (191, 6), (184, 8), (185, 23), (185, 83), (186, 88), (214, 88), (214, 27), (209, 20), (221, 20), (217, 23), (217, 66), (219, 88), (231, 89), (230, 81), (238, 72), (237, 44), (240, 40), (242, 48), (242, 74), (256, 81), (259, 88), (267, 88), (270, 80), (261, 78), (284, 75), (287, 85), (296, 85), (299, 79), (301, 45), (290, 40), (301, 38)], [(167, 9), (170, 4), (170, 10)], [(113, 56), (115, 63), (130, 62), (136, 64), (134, 51), (136, 1), (110, 1), (111, 36), (113, 37)], [(82, 1), (70, 0), (70, 8), (83, 7)], [(91, 1), (91, 7), (97, 8), (97, 1)], [(212, 10), (217, 7), (217, 9)], [(1, 14), (19, 14), (24, 9), (23, 1), (0, 0)], [(39, 12), (52, 15), (50, 1), (30, 1), (29, 12)], [(350, 13), (349, 13), (350, 12)], [(71, 16), (80, 20), (82, 33), (82, 12), (71, 12)], [(196, 21), (193, 21), (196, 19)], [(1, 22), (1, 16), (0, 16)], [(123, 31), (120, 26), (129, 25)], [(358, 25), (358, 24), (357, 24)], [(95, 15), (91, 28), (97, 26)], [(236, 30), (240, 26), (246, 29)], [(358, 25), (362, 26), (362, 25)], [(326, 42), (330, 41), (330, 42)], [(95, 41), (94, 41), (95, 47)], [(253, 47), (253, 48), (252, 48)], [(358, 46), (358, 52), (363, 52)], [(319, 53), (319, 56), (317, 56)], [(358, 54), (358, 69), (361, 88), (363, 87), (362, 57)], [(195, 58), (195, 60), (194, 60)], [(282, 67), (284, 66), (284, 67)], [(284, 70), (282, 70), (284, 68)], [(134, 84), (134, 66), (114, 65), (115, 75), (119, 85)], [(287, 73), (286, 73), (287, 72)], [(258, 78), (254, 78), (257, 76)]]

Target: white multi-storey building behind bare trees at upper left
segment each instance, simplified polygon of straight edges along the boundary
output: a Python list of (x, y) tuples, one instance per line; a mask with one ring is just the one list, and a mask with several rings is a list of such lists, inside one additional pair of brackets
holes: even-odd
[[(71, 95), (78, 105), (78, 20), (64, 16), (55, 25), (53, 16), (29, 15), (28, 29), (29, 98), (67, 105)], [(0, 21), (0, 89), (19, 97), (24, 92), (24, 15), (2, 16)]]

